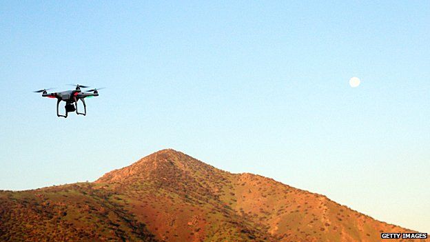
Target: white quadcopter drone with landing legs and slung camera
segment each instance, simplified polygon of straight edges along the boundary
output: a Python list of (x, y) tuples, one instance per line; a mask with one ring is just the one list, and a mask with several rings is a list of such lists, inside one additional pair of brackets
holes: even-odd
[[(87, 105), (85, 104), (85, 97), (97, 97), (99, 96), (98, 90), (103, 88), (94, 88), (92, 90), (81, 90), (81, 88), (90, 88), (88, 85), (79, 85), (79, 84), (68, 84), (76, 86), (75, 90), (68, 90), (63, 92), (51, 92), (48, 93), (48, 90), (52, 90), (52, 88), (37, 90), (34, 92), (42, 92), (42, 97), (49, 97), (51, 99), (57, 99), (57, 117), (68, 117), (68, 112), (75, 112), (76, 114), (81, 114), (85, 116), (87, 114)], [(78, 111), (78, 101), (81, 100), (83, 103), (84, 112)], [(59, 104), (61, 101), (65, 101), (65, 114), (59, 113)]]

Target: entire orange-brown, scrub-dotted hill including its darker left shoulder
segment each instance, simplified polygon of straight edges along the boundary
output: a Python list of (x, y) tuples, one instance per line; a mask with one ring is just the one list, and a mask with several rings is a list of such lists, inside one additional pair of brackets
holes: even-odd
[(380, 232), (412, 231), (174, 150), (94, 183), (0, 192), (0, 241), (380, 241)]

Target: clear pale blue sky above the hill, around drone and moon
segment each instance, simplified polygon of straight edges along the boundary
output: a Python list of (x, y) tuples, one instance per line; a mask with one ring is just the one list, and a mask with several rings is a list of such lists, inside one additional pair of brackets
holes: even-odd
[(429, 43), (430, 1), (1, 1), (0, 189), (174, 148), (430, 232)]

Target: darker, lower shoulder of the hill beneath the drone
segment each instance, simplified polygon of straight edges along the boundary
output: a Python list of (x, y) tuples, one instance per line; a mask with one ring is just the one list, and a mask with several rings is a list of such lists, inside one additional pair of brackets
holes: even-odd
[(91, 183), (0, 192), (0, 241), (156, 241)]

